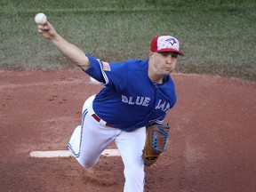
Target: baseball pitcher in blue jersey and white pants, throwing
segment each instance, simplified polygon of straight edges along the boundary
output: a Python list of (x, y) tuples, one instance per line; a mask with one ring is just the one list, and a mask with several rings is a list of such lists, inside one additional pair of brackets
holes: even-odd
[(106, 62), (68, 43), (48, 21), (38, 30), (68, 60), (104, 85), (85, 100), (82, 123), (71, 136), (69, 150), (79, 164), (90, 168), (114, 141), (124, 162), (124, 192), (143, 192), (144, 166), (156, 162), (169, 135), (169, 125), (163, 122), (176, 103), (171, 73), (178, 56), (184, 55), (179, 41), (156, 36), (148, 60)]

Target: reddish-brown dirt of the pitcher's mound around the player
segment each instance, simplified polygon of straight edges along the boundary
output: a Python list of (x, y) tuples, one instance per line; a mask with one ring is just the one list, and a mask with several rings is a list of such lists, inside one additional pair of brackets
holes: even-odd
[[(256, 191), (256, 84), (177, 73), (173, 79), (178, 103), (165, 120), (172, 134), (168, 150), (146, 169), (145, 191)], [(92, 174), (73, 157), (29, 156), (67, 149), (84, 100), (100, 88), (79, 69), (0, 71), (0, 191), (123, 191), (118, 156), (102, 156)]]

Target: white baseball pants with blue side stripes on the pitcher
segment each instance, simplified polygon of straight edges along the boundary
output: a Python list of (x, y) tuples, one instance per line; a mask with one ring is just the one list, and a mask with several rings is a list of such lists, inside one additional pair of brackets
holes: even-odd
[(84, 168), (96, 164), (100, 154), (115, 141), (124, 163), (124, 192), (143, 192), (144, 164), (141, 159), (146, 140), (146, 128), (134, 132), (124, 132), (106, 126), (106, 122), (96, 121), (92, 114), (92, 101), (95, 96), (84, 102), (82, 124), (77, 126), (68, 143), (68, 148)]

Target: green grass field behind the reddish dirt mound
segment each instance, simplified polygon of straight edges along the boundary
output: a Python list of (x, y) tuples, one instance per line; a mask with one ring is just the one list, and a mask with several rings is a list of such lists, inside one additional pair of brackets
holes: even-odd
[(72, 68), (37, 33), (44, 12), (70, 43), (102, 60), (146, 59), (150, 40), (180, 40), (177, 70), (256, 81), (254, 0), (2, 0), (0, 69)]

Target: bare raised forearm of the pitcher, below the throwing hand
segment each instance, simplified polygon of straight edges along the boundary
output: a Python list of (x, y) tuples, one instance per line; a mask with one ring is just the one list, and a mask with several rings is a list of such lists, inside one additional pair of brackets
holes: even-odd
[(54, 36), (51, 40), (68, 60), (85, 70), (90, 67), (88, 58), (76, 45), (68, 43), (60, 35)]

